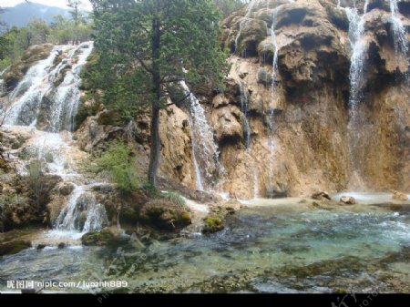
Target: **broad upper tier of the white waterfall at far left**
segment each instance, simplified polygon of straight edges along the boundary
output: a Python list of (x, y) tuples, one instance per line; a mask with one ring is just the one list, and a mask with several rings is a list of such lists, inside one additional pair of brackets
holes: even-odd
[[(27, 71), (9, 95), (12, 107), (5, 124), (36, 127), (41, 116), (42, 128), (45, 126), (51, 132), (71, 131), (80, 100), (80, 69), (92, 50), (92, 42), (55, 46), (50, 56)], [(55, 64), (57, 53), (63, 58)]]

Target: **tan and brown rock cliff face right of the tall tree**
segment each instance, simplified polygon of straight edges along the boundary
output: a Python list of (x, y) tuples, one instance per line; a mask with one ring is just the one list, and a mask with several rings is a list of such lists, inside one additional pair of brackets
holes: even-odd
[[(336, 4), (252, 1), (222, 22), (232, 54), (227, 90), (199, 97), (224, 168), (214, 189), (238, 198), (410, 189), (410, 4), (399, 1), (395, 15), (393, 0), (357, 11), (353, 2)], [(355, 80), (357, 60), (363, 68)], [(193, 188), (189, 120), (178, 107), (168, 112), (161, 170)]]

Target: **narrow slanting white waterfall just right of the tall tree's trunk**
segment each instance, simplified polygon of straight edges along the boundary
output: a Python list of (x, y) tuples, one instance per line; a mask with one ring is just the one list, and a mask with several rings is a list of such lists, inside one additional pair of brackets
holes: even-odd
[(190, 96), (190, 128), (192, 139), (192, 156), (197, 176), (197, 189), (208, 189), (215, 183), (215, 177), (220, 173), (218, 146), (213, 139), (205, 110), (184, 81), (180, 86), (186, 95)]

